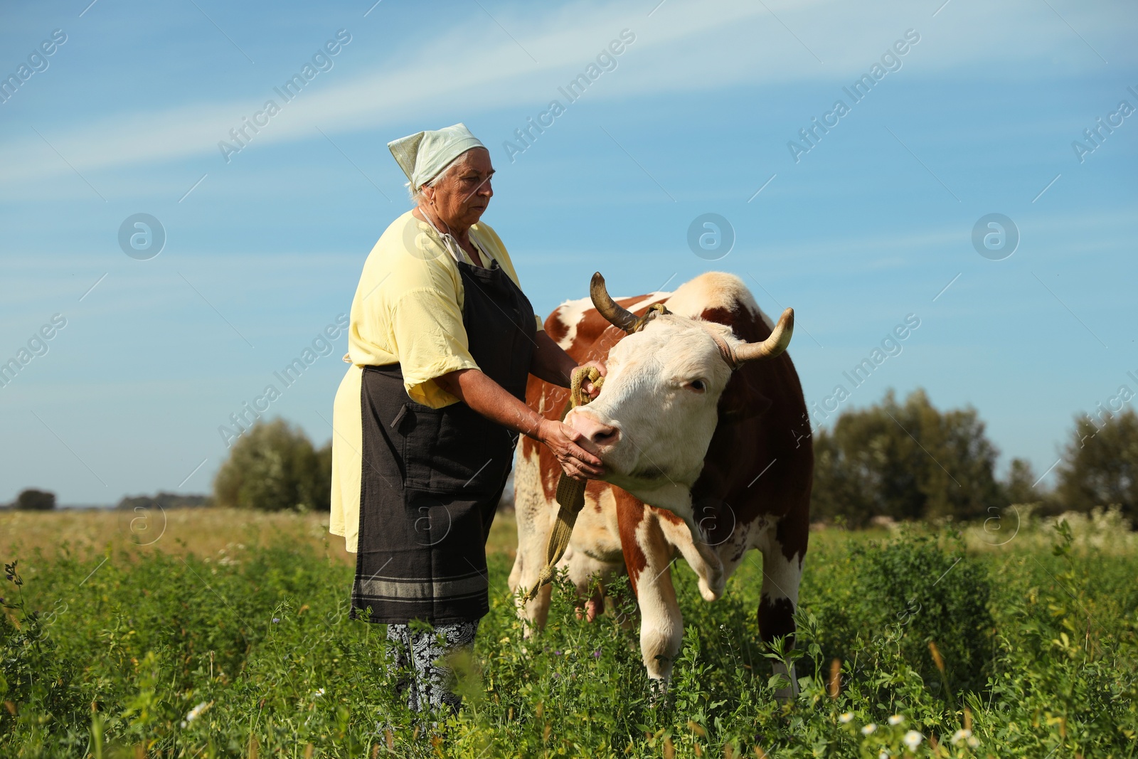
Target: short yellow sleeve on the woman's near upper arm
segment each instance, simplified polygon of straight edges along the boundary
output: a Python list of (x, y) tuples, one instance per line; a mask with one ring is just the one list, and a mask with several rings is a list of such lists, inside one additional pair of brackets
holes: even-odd
[(478, 364), (454, 295), (434, 288), (405, 292), (391, 306), (390, 324), (407, 396), (432, 409), (455, 403), (435, 378)]

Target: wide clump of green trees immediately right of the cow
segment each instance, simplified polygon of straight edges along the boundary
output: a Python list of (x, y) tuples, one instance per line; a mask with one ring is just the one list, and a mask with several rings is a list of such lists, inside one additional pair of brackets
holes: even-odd
[(938, 411), (921, 389), (899, 404), (889, 390), (815, 436), (811, 510), (852, 526), (875, 515), (983, 517), (1003, 505), (997, 455), (975, 409)]

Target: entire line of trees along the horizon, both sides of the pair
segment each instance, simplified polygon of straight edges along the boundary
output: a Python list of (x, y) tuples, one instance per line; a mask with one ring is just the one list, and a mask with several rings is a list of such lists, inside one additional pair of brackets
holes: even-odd
[[(1130, 407), (1104, 411), (1097, 419), (1075, 418), (1050, 489), (1040, 486), (1024, 459), (1013, 459), (1006, 475), (997, 477), (999, 451), (976, 410), (941, 411), (922, 389), (904, 401), (889, 390), (872, 406), (846, 411), (831, 427), (816, 430), (813, 442), (815, 521), (848, 527), (864, 527), (875, 518), (968, 521), (1011, 504), (1034, 504), (1045, 514), (1118, 505), (1138, 523), (1138, 414)], [(212, 498), (159, 494), (124, 498), (119, 506), (212, 502), (262, 511), (327, 511), (331, 481), (331, 442), (318, 448), (300, 428), (274, 419), (258, 421), (233, 444), (214, 479)], [(52, 509), (55, 495), (27, 489), (10, 506)]]

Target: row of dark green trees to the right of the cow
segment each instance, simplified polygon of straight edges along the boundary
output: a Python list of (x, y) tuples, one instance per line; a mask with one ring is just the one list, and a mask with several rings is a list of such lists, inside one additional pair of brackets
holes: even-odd
[(924, 390), (904, 402), (889, 390), (815, 435), (811, 517), (860, 527), (874, 517), (986, 519), (1011, 504), (1045, 514), (1118, 505), (1138, 521), (1138, 414), (1098, 421), (1075, 418), (1048, 489), (1024, 459), (997, 478), (999, 452), (975, 409), (940, 411)]

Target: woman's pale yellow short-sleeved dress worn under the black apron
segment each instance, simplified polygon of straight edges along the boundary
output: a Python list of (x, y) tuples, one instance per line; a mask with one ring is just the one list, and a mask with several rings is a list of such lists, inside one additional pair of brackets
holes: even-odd
[[(502, 240), (487, 224), (470, 228), (478, 249), (520, 287)], [(461, 250), (467, 263), (473, 263)], [(463, 287), (459, 267), (430, 224), (409, 211), (387, 228), (368, 255), (352, 299), (348, 324), (351, 362), (332, 410), (332, 510), (329, 531), (356, 550), (363, 428), (360, 419), (362, 366), (398, 363), (407, 396), (439, 409), (457, 398), (435, 378), (477, 369), (462, 323)], [(534, 315), (537, 329), (542, 320)]]

